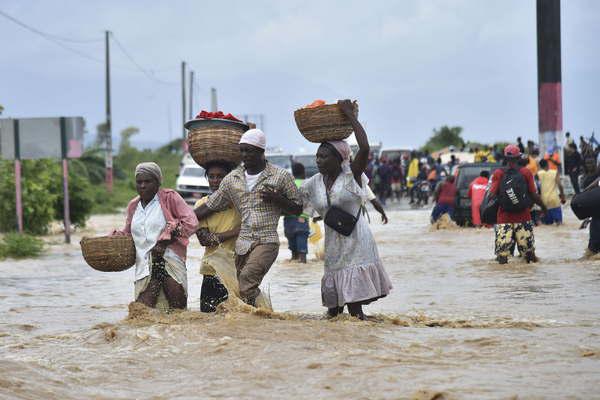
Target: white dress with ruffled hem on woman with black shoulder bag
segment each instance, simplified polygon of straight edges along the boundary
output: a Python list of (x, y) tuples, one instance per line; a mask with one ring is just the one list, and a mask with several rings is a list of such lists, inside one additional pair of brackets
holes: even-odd
[[(333, 184), (331, 205), (353, 215), (367, 201), (368, 179), (363, 174), (362, 187), (349, 168), (345, 168)], [(300, 188), (305, 207), (313, 208), (323, 218), (328, 210), (323, 175), (317, 173)], [(367, 304), (386, 296), (392, 289), (377, 251), (369, 223), (361, 215), (350, 236), (344, 236), (325, 226), (325, 273), (321, 280), (321, 297), (327, 308), (347, 303)]]

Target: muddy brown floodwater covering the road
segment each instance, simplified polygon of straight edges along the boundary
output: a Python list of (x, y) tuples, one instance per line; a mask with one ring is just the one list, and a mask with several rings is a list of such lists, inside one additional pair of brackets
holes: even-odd
[[(600, 260), (567, 210), (535, 230), (541, 262), (493, 260), (490, 230), (431, 231), (428, 211), (372, 223), (394, 290), (360, 322), (323, 319), (322, 265), (282, 245), (267, 276), (275, 312), (128, 306), (133, 271), (100, 273), (78, 245), (0, 263), (0, 398), (600, 398)], [(97, 216), (93, 235), (122, 225)], [(75, 237), (74, 242), (79, 238)]]

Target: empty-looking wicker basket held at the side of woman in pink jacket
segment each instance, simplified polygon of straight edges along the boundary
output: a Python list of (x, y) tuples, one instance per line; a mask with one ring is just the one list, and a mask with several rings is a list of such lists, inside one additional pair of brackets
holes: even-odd
[(84, 237), (79, 244), (85, 261), (98, 271), (125, 271), (135, 264), (135, 245), (131, 236)]

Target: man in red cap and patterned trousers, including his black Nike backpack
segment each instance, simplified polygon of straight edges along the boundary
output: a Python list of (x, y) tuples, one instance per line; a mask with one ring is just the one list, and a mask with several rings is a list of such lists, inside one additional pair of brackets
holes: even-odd
[(490, 194), (498, 198), (497, 223), (495, 232), (495, 253), (500, 264), (508, 262), (511, 248), (516, 242), (519, 253), (525, 260), (536, 262), (533, 223), (531, 221), (531, 201), (546, 212), (546, 206), (537, 193), (533, 175), (519, 165), (521, 152), (513, 144), (504, 149), (507, 166), (494, 171)]

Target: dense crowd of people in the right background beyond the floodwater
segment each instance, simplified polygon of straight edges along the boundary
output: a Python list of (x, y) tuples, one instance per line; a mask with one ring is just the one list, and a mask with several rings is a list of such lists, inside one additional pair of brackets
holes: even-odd
[[(546, 199), (552, 203), (551, 210), (559, 207), (556, 204), (556, 198), (558, 197), (558, 201), (561, 201), (560, 193), (564, 197), (564, 188), (560, 180), (560, 176), (563, 174), (563, 162), (564, 174), (569, 177), (575, 194), (581, 191), (585, 177), (595, 174), (597, 170), (600, 145), (594, 134), (587, 140), (583, 136), (580, 137), (579, 145), (577, 145), (571, 138), (571, 134), (567, 132), (562, 154), (560, 148), (549, 147), (541, 155), (540, 148), (535, 142), (529, 140), (527, 143), (523, 143), (520, 137), (517, 138), (516, 146), (521, 154), (519, 164), (526, 166), (534, 176), (538, 193), (541, 193), (542, 190), (546, 193)], [(394, 159), (371, 157), (366, 170), (370, 188), (377, 200), (384, 206), (388, 202), (399, 202), (403, 197), (407, 198), (409, 204), (414, 207), (424, 206), (432, 197), (435, 197), (438, 185), (443, 184), (447, 176), (456, 176), (458, 166), (467, 161), (461, 160), (455, 154), (469, 153), (468, 161), (476, 163), (506, 164), (507, 160), (500, 145), (471, 148), (450, 146), (448, 152), (450, 157), (445, 162), (440, 156), (434, 158), (428, 151), (412, 151), (410, 154), (405, 153)], [(481, 178), (488, 178), (489, 175), (490, 172)], [(554, 178), (550, 178), (550, 176)], [(552, 179), (556, 182), (555, 184), (550, 184)], [(479, 179), (477, 183), (479, 189), (481, 189), (482, 183), (482, 179)], [(474, 196), (480, 195), (475, 192)], [(536, 213), (535, 222), (539, 223), (539, 209), (535, 208), (534, 212)], [(551, 214), (556, 214), (556, 212), (551, 211)], [(554, 217), (547, 218), (545, 221), (560, 223), (560, 216), (554, 215)], [(474, 222), (474, 225), (479, 226), (480, 224)]]

